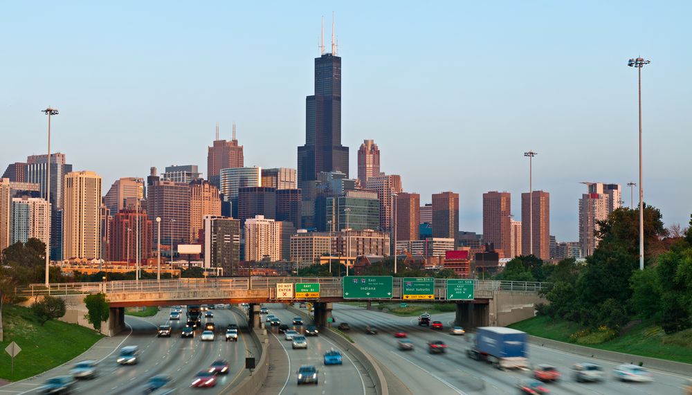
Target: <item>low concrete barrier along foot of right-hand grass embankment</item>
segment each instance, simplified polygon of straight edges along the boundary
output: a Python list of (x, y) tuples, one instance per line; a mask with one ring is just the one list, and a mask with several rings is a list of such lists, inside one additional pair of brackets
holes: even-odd
[(617, 351), (594, 349), (592, 347), (573, 345), (572, 343), (560, 342), (558, 340), (539, 338), (538, 336), (528, 335), (528, 337), (531, 344), (558, 349), (560, 351), (566, 351), (580, 356), (610, 360), (612, 362), (632, 363), (634, 365), (639, 365), (639, 362), (641, 362), (644, 367), (649, 367), (652, 369), (659, 369), (676, 374), (692, 374), (692, 365), (689, 363), (636, 356), (628, 353), (619, 353)]

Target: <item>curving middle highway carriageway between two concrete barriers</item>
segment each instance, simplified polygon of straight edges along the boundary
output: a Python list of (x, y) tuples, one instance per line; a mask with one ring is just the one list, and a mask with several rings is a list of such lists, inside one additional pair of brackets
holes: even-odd
[[(288, 324), (289, 329), (295, 329), (304, 333), (303, 327), (293, 327), (292, 321), (295, 314), (284, 308), (282, 304), (263, 304), (269, 308), (269, 313), (276, 315), (282, 323)], [(265, 315), (262, 315), (264, 320)], [(284, 340), (284, 334), (279, 333), (277, 327), (268, 327), (271, 336), (275, 336), (281, 342), (286, 353), (286, 363), (289, 365), (284, 387), (279, 395), (293, 394), (339, 394), (339, 395), (370, 395), (375, 394), (372, 380), (365, 373), (365, 369), (358, 360), (347, 356), (343, 350), (324, 336), (308, 336), (307, 349), (293, 349), (289, 340)], [(324, 365), (323, 356), (329, 349), (338, 349), (343, 355), (343, 365)], [(300, 365), (315, 365), (318, 369), (318, 385), (297, 383), (296, 371)], [(363, 373), (361, 373), (363, 372)]]

